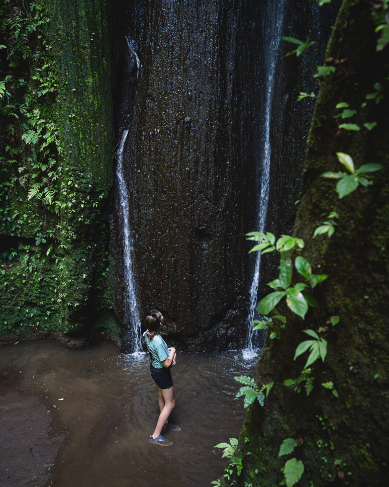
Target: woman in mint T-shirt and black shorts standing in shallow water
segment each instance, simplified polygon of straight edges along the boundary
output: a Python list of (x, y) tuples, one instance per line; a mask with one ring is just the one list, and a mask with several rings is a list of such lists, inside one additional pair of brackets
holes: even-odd
[(153, 309), (146, 316), (146, 332), (143, 334), (146, 341), (147, 349), (150, 353), (150, 373), (158, 386), (158, 403), (160, 415), (154, 433), (150, 435), (150, 441), (159, 445), (171, 445), (162, 435), (162, 428), (166, 425), (169, 428), (179, 431), (180, 426), (174, 424), (169, 415), (174, 408), (175, 399), (173, 391), (173, 381), (171, 380), (170, 368), (175, 365), (175, 349), (167, 348), (167, 345), (160, 335), (160, 329), (163, 324), (162, 313)]

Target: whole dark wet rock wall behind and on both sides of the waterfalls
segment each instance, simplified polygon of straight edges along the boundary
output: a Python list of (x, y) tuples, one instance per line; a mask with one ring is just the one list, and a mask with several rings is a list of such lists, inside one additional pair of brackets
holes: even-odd
[[(129, 129), (124, 166), (141, 318), (157, 307), (167, 333), (188, 349), (239, 347), (255, 265), (244, 234), (258, 225), (266, 18), (278, 6), (123, 0), (116, 8), (116, 133), (119, 141)], [(318, 34), (312, 69), (324, 60), (331, 25), (318, 9), (285, 3), (282, 35)], [(298, 104), (297, 96), (315, 88), (308, 60), (285, 58), (290, 46), (280, 45), (271, 107), (266, 230), (277, 236), (293, 229), (313, 112), (313, 100)], [(114, 205), (116, 309), (125, 327), (118, 213)], [(259, 295), (276, 267), (263, 259)]]

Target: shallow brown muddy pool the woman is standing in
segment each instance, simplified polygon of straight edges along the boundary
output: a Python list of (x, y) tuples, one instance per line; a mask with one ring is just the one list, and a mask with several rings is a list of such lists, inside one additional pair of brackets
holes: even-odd
[(226, 466), (214, 445), (237, 437), (252, 375), (241, 352), (178, 354), (172, 369), (179, 432), (149, 441), (158, 418), (148, 355), (104, 341), (67, 349), (41, 340), (0, 348), (0, 486), (197, 487)]

